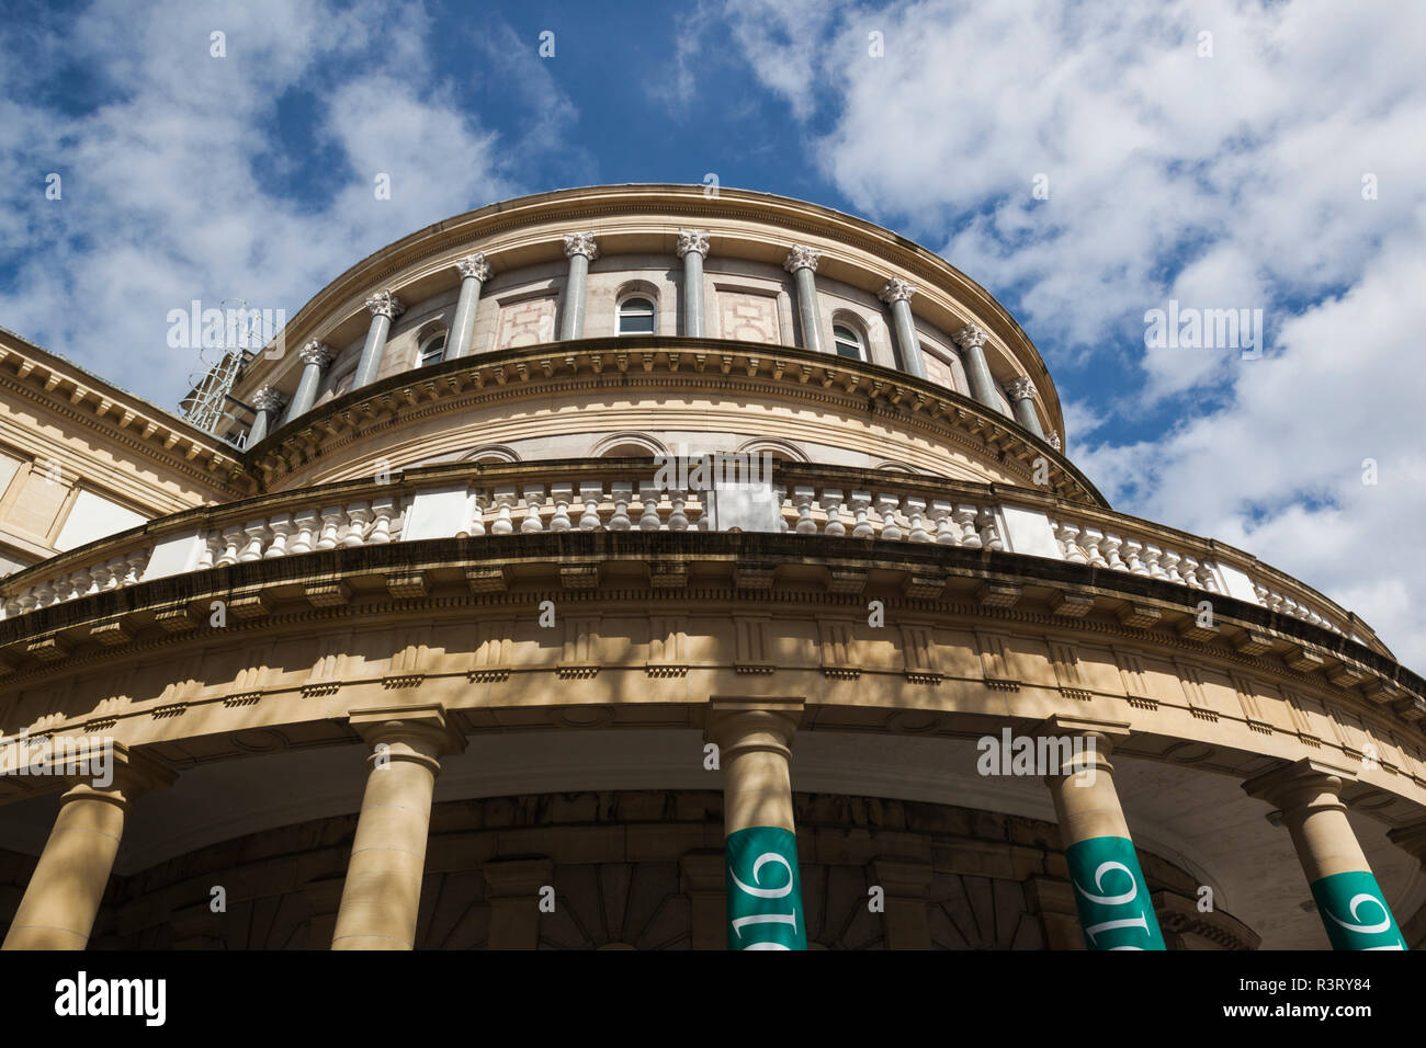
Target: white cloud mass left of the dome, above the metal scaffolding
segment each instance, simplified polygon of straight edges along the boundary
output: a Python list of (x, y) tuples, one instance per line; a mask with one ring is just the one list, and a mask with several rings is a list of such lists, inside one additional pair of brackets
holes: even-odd
[[(381, 245), (519, 192), (520, 150), (558, 147), (573, 107), (528, 70), (530, 133), (499, 138), (441, 78), (432, 31), (419, 4), (375, 0), (98, 0), (63, 34), (6, 33), (0, 177), (33, 187), (0, 218), (6, 327), (173, 406), (198, 359), (167, 348), (170, 309), (245, 298), (291, 317)], [(29, 101), (13, 71), (27, 50), (83, 67), (98, 84), (84, 96), (108, 101)], [(279, 135), (279, 115), (304, 108), (314, 127)], [(61, 201), (44, 200), (51, 170)], [(378, 173), (391, 200), (374, 192)]]

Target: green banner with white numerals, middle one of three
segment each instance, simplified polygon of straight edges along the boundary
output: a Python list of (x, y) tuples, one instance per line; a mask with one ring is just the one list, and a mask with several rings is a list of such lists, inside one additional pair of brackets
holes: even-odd
[(1165, 950), (1128, 837), (1089, 837), (1065, 850), (1088, 950)]

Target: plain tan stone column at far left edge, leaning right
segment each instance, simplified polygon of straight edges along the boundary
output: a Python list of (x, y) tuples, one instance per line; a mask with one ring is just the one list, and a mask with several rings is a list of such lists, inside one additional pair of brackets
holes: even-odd
[(86, 741), (93, 746), (83, 751), (90, 759), (90, 774), (68, 777), (73, 786), (60, 801), (60, 814), (14, 913), (4, 950), (87, 947), (134, 801), (174, 780), (163, 764), (123, 743), (111, 744), (108, 774), (103, 774), (104, 766), (94, 764), (104, 759), (103, 743)]

